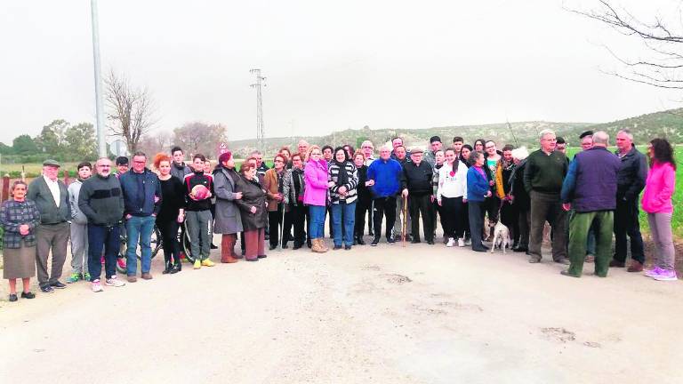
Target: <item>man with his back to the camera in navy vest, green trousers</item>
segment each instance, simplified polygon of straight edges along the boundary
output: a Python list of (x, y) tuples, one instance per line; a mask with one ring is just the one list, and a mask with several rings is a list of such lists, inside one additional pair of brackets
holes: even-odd
[(591, 226), (596, 228), (595, 275), (606, 277), (609, 269), (616, 207), (616, 177), (621, 162), (607, 150), (607, 132), (595, 132), (592, 140), (592, 147), (577, 154), (569, 165), (562, 186), (563, 210), (575, 210), (569, 233), (571, 264), (562, 271), (565, 276), (581, 277), (586, 238)]

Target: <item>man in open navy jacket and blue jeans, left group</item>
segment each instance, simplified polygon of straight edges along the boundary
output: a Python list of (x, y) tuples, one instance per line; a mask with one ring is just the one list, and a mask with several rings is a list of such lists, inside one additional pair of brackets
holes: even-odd
[(152, 266), (152, 248), (150, 246), (154, 222), (161, 206), (161, 183), (157, 174), (147, 168), (147, 156), (142, 152), (133, 155), (133, 168), (125, 172), (119, 179), (125, 204), (125, 233), (128, 236), (126, 249), (126, 275), (128, 281), (137, 281), (135, 274), (138, 268), (138, 242), (142, 252), (141, 277), (150, 280), (149, 269)]

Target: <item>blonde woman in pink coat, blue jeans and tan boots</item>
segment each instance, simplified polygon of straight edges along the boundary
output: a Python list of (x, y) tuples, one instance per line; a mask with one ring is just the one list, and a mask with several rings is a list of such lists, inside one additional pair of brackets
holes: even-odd
[(303, 193), (303, 204), (309, 207), (309, 235), (313, 246), (311, 252), (324, 253), (325, 246), (325, 212), (327, 206), (327, 163), (321, 158), (320, 147), (309, 148), (308, 161), (303, 169), (306, 190)]

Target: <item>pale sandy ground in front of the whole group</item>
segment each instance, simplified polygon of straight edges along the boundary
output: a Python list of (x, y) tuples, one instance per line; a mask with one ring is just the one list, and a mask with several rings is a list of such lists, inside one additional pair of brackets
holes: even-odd
[[(679, 383), (683, 284), (438, 244), (0, 301), (0, 382)], [(217, 257), (214, 251), (213, 258)]]

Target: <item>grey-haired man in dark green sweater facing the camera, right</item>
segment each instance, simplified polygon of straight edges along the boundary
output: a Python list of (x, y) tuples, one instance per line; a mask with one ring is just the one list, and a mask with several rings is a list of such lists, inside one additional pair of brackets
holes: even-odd
[(552, 260), (568, 264), (566, 259), (566, 212), (562, 209), (559, 194), (569, 161), (565, 154), (555, 150), (555, 132), (543, 130), (539, 134), (541, 148), (527, 157), (524, 170), (524, 188), (531, 197), (531, 230), (529, 231), (529, 262), (541, 262), (543, 227), (550, 223), (553, 229)]

